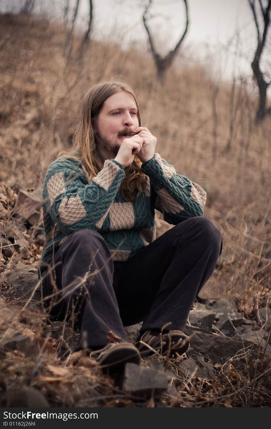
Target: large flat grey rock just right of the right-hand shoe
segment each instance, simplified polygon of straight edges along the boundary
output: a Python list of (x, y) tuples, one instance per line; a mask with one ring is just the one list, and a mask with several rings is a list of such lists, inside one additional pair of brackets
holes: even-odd
[(246, 351), (251, 350), (253, 344), (243, 338), (194, 332), (194, 335), (190, 337), (190, 345), (212, 363), (217, 363), (225, 362), (236, 353), (240, 354), (240, 350), (243, 350), (244, 347)]

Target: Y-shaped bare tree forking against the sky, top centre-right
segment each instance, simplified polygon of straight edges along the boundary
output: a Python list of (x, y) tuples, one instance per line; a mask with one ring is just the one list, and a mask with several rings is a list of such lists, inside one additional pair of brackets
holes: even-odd
[(149, 43), (150, 43), (152, 55), (154, 57), (155, 65), (156, 65), (156, 69), (157, 69), (157, 76), (158, 76), (158, 79), (160, 80), (160, 82), (163, 81), (166, 70), (169, 68), (169, 66), (172, 64), (174, 58), (176, 57), (176, 54), (178, 53), (179, 48), (181, 46), (181, 43), (182, 43), (183, 39), (185, 38), (185, 34), (188, 30), (188, 23), (189, 23), (189, 21), (188, 21), (188, 4), (187, 4), (187, 0), (183, 0), (183, 1), (185, 3), (185, 12), (186, 12), (185, 31), (182, 34), (181, 38), (179, 39), (179, 42), (176, 44), (175, 48), (172, 51), (170, 51), (166, 55), (166, 57), (164, 57), (164, 58), (162, 58), (161, 55), (158, 54), (158, 52), (156, 51), (151, 33), (149, 31), (149, 28), (148, 28), (148, 25), (146, 22), (146, 14), (149, 10), (149, 7), (151, 6), (152, 0), (149, 0), (149, 4), (146, 6), (145, 12), (143, 14), (143, 24), (144, 24), (144, 27), (146, 28), (146, 32), (147, 32), (148, 37), (149, 37)]

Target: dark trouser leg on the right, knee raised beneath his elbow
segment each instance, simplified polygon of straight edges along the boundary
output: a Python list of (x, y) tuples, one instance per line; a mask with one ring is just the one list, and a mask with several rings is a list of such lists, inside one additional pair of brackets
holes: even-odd
[(116, 298), (124, 326), (182, 330), (194, 299), (222, 251), (219, 229), (205, 217), (181, 222), (119, 267)]

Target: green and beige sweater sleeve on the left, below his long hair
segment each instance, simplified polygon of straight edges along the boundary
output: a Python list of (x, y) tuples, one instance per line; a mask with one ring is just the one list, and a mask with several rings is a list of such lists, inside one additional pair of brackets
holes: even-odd
[(106, 160), (103, 169), (88, 183), (71, 160), (56, 160), (45, 175), (44, 210), (65, 235), (84, 228), (98, 231), (124, 177), (121, 164)]

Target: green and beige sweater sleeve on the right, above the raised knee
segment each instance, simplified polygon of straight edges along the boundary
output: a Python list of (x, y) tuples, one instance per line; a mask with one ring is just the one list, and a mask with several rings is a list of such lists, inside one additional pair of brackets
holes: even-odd
[(176, 225), (194, 216), (203, 216), (206, 192), (200, 185), (179, 175), (159, 154), (141, 166), (155, 192), (155, 208), (169, 224)]

